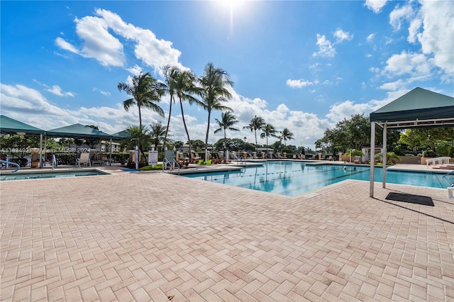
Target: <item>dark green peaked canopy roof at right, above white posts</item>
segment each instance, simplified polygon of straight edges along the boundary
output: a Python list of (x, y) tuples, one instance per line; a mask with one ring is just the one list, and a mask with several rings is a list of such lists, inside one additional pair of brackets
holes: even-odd
[[(446, 120), (450, 121), (446, 121)], [(433, 123), (411, 123), (431, 120)], [(409, 126), (448, 127), (454, 121), (454, 98), (433, 91), (416, 87), (407, 94), (370, 113), (371, 122), (393, 123), (392, 128), (409, 128)], [(444, 121), (444, 122), (443, 122)], [(389, 124), (390, 125), (390, 124)]]

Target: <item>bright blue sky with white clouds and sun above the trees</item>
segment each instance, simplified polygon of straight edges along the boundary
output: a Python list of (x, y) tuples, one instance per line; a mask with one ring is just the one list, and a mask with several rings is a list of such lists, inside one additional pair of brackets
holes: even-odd
[[(419, 86), (454, 96), (452, 1), (1, 1), (1, 114), (44, 130), (138, 124), (117, 89), (166, 64), (201, 76), (212, 62), (235, 83), (238, 128), (261, 116), (314, 148), (323, 131)], [(166, 114), (169, 98), (160, 106)], [(192, 139), (206, 111), (185, 106)], [(209, 142), (223, 137), (211, 119)], [(167, 122), (143, 111), (143, 123)], [(172, 139), (186, 141), (179, 107)], [(241, 130), (229, 137), (253, 133)], [(260, 140), (260, 139), (259, 139)], [(270, 143), (274, 142), (272, 139)], [(260, 140), (259, 143), (265, 143)]]

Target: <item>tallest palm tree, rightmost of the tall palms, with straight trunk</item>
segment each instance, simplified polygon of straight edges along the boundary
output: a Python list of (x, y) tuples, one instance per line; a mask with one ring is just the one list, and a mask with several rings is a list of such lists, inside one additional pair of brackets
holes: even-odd
[[(227, 106), (223, 106), (223, 102), (231, 98), (231, 93), (227, 87), (233, 86), (233, 82), (228, 79), (228, 73), (213, 66), (212, 63), (205, 65), (204, 75), (199, 79), (202, 88), (202, 103), (206, 111), (208, 111), (208, 125), (206, 126), (205, 145), (208, 145), (208, 137), (210, 130), (211, 111), (233, 111)], [(208, 149), (205, 148), (205, 158), (208, 158)]]

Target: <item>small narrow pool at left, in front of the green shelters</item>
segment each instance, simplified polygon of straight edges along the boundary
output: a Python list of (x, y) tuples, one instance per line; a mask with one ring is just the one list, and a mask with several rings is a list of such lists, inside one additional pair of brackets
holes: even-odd
[(48, 171), (48, 172), (16, 172), (11, 174), (0, 175), (0, 181), (24, 180), (24, 179), (49, 179), (49, 178), (66, 178), (66, 177), (86, 177), (106, 175), (109, 173), (99, 170), (84, 170), (84, 171)]

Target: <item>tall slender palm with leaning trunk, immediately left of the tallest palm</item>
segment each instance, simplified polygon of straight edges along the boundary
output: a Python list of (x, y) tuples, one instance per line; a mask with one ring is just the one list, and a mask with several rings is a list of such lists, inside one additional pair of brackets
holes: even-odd
[(184, 120), (183, 101), (187, 101), (189, 105), (197, 104), (199, 106), (204, 106), (201, 101), (192, 96), (192, 94), (201, 95), (201, 88), (196, 86), (196, 82), (196, 76), (189, 70), (178, 72), (175, 77), (175, 92), (179, 99), (179, 107), (182, 109), (184, 130), (186, 131), (187, 140), (189, 142), (189, 154), (191, 152), (191, 139), (189, 138), (189, 131), (187, 130), (186, 121)]

